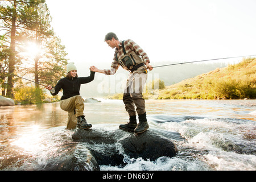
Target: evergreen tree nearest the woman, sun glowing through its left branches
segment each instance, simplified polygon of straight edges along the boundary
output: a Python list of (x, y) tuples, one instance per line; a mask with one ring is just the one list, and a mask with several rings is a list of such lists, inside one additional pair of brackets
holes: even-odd
[[(34, 22), (30, 24), (30, 30), (24, 32), (27, 39), (24, 43), (32, 42), (36, 47), (32, 55), (34, 67), (28, 73), (34, 74), (35, 82), (44, 85), (56, 84), (56, 80), (65, 75), (63, 67), (67, 64), (67, 53), (50, 26), (51, 16), (46, 3), (36, 5), (34, 10), (37, 12)], [(36, 98), (40, 101), (39, 85), (35, 84), (35, 87)]]

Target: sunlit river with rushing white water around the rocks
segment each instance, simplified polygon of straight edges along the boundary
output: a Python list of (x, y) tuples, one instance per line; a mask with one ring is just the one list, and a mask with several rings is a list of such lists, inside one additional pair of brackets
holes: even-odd
[[(85, 103), (85, 118), (93, 127), (127, 122), (123, 102)], [(174, 131), (177, 155), (156, 161), (129, 159), (125, 166), (100, 170), (231, 171), (256, 169), (256, 100), (146, 100), (151, 129)], [(0, 107), (0, 170), (34, 170), (58, 146), (72, 147), (67, 113), (59, 103)], [(92, 129), (93, 129), (92, 127)], [(127, 159), (126, 159), (127, 160)]]

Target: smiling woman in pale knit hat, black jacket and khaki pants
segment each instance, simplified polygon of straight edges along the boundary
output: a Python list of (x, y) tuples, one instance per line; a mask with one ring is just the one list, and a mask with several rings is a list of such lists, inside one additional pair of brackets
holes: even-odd
[(56, 96), (60, 89), (63, 89), (63, 96), (60, 99), (60, 108), (64, 111), (68, 111), (67, 129), (75, 129), (76, 126), (79, 129), (89, 129), (92, 127), (85, 119), (84, 100), (80, 96), (79, 91), (81, 84), (93, 81), (94, 75), (95, 72), (90, 71), (90, 76), (78, 77), (76, 66), (71, 62), (67, 65), (67, 76), (61, 78), (54, 88), (52, 88), (51, 85), (46, 87), (46, 89), (50, 90), (52, 96)]

